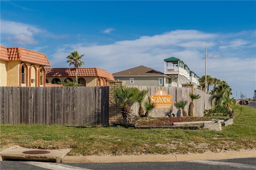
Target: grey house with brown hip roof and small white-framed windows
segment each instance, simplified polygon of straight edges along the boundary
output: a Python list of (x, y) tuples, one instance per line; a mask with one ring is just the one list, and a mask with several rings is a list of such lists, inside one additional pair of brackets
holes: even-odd
[(140, 65), (131, 69), (113, 73), (116, 80), (126, 81), (126, 85), (164, 86), (164, 73)]

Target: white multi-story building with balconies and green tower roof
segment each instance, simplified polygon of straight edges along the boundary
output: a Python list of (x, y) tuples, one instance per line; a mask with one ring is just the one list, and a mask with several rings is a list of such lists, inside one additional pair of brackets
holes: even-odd
[(199, 85), (199, 77), (189, 69), (182, 60), (170, 57), (164, 59), (164, 86), (182, 87), (182, 84), (194, 83), (197, 88)]

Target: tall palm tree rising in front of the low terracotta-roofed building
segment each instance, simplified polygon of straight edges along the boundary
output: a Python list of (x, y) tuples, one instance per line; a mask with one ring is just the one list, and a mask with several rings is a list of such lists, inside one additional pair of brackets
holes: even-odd
[(74, 65), (75, 69), (76, 69), (76, 83), (77, 82), (77, 68), (78, 67), (81, 67), (82, 64), (84, 64), (84, 61), (81, 61), (81, 58), (84, 56), (84, 54), (82, 55), (79, 55), (77, 51), (73, 51), (72, 53), (70, 53), (70, 55), (68, 55), (66, 58), (68, 59), (67, 60), (67, 63), (69, 63), (69, 66), (70, 65)]

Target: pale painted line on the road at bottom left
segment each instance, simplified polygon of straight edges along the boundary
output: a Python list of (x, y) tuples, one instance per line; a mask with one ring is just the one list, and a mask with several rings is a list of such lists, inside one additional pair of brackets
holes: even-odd
[(22, 162), (24, 164), (34, 165), (41, 168), (46, 168), (50, 170), (90, 170), (86, 168), (79, 168), (76, 166), (69, 166), (64, 164), (56, 164), (51, 162)]

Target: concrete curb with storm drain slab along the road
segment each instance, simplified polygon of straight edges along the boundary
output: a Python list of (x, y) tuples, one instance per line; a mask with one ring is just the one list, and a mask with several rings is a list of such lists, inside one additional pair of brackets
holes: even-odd
[(174, 162), (191, 160), (218, 160), (231, 158), (256, 158), (256, 150), (207, 152), (202, 154), (168, 154), (168, 155), (122, 155), (122, 156), (66, 156), (71, 149), (47, 150), (48, 154), (24, 154), (24, 151), (39, 150), (28, 148), (9, 148), (0, 152), (0, 160), (52, 160), (56, 163), (110, 163), (110, 162)]

